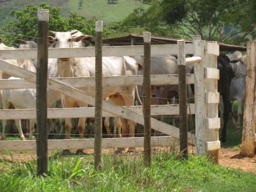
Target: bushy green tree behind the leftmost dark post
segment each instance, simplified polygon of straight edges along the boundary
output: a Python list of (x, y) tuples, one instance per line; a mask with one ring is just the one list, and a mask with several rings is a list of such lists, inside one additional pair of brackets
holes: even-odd
[(37, 37), (37, 9), (49, 9), (49, 30), (51, 31), (71, 31), (79, 30), (84, 34), (95, 34), (96, 17), (86, 19), (77, 13), (70, 13), (69, 18), (61, 16), (60, 7), (53, 8), (45, 3), (41, 3), (38, 7), (35, 5), (28, 5), (21, 11), (12, 11), (11, 14), (15, 20), (9, 22), (3, 29), (1, 29), (4, 42), (11, 45), (17, 38), (31, 40)]

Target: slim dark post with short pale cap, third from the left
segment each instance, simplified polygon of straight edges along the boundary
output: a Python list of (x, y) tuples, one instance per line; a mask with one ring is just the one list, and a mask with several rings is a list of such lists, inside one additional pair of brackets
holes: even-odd
[(151, 165), (151, 33), (144, 32), (144, 72), (143, 72), (143, 115), (144, 115), (144, 162)]

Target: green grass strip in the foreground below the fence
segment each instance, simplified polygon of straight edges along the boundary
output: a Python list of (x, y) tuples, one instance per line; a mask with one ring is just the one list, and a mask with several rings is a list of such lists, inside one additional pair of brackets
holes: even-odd
[(153, 155), (150, 168), (142, 156), (103, 156), (93, 168), (93, 156), (51, 158), (47, 177), (35, 177), (36, 162), (0, 161), (1, 191), (253, 191), (256, 175), (224, 168), (206, 157)]

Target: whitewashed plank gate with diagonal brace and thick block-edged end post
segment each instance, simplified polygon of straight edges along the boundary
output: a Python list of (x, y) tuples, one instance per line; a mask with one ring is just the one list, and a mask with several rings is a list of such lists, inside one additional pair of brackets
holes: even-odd
[[(147, 41), (146, 42), (150, 42)], [(144, 46), (102, 47), (98, 57), (144, 55)], [(186, 83), (195, 84), (195, 103), (187, 104), (187, 113), (195, 114), (195, 134), (187, 133), (187, 142), (196, 148), (197, 155), (209, 155), (218, 162), (220, 150), (218, 118), (219, 45), (196, 36), (192, 44), (184, 40), (173, 45), (151, 45), (151, 55), (178, 55), (182, 65), (196, 64), (195, 74), (186, 74)], [(95, 47), (48, 49), (48, 58), (95, 57)], [(150, 55), (150, 54), (149, 54)], [(185, 58), (185, 55), (189, 56)], [(0, 50), (0, 70), (22, 79), (0, 80), (0, 89), (34, 89), (36, 74), (12, 65), (5, 59), (36, 59), (37, 49)], [(99, 58), (100, 59), (100, 58)], [(150, 75), (151, 85), (179, 84), (178, 74)], [(46, 79), (45, 79), (46, 80)], [(102, 86), (141, 86), (143, 75), (102, 77)], [(47, 87), (61, 94), (95, 105), (95, 97), (79, 90), (95, 87), (95, 77), (48, 78)], [(186, 93), (183, 93), (186, 95)], [(119, 106), (102, 101), (102, 116), (120, 116), (144, 125), (142, 106)], [(179, 105), (152, 105), (151, 116), (180, 115)], [(95, 117), (95, 108), (47, 109), (47, 118)], [(36, 119), (36, 109), (0, 110), (0, 119)], [(151, 146), (180, 146), (178, 127), (150, 118), (151, 128), (168, 136), (151, 137)], [(45, 138), (47, 138), (45, 136)], [(143, 147), (143, 137), (104, 138), (102, 148)], [(94, 149), (94, 139), (48, 140), (48, 150)], [(0, 141), (0, 151), (37, 150), (35, 140)], [(39, 153), (40, 154), (40, 153)]]

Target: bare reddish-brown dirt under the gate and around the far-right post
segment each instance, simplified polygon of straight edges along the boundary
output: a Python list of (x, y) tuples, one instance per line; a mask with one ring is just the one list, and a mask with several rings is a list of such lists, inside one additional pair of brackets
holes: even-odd
[[(165, 150), (167, 150), (167, 148), (161, 147), (161, 148), (157, 148), (157, 150), (153, 149), (153, 153), (165, 151)], [(142, 151), (143, 151), (142, 148), (136, 148), (133, 155), (139, 154)], [(86, 150), (85, 152), (87, 154), (93, 154), (93, 150)], [(123, 151), (124, 154), (126, 154), (126, 152), (127, 152), (127, 149)], [(115, 150), (114, 149), (102, 150), (102, 153), (114, 154)], [(10, 155), (0, 154), (0, 159), (1, 158), (7, 158), (9, 161), (12, 161), (13, 159), (18, 161), (25, 161), (25, 160), (30, 161), (32, 159), (36, 159), (36, 154), (34, 152), (30, 152), (30, 153), (19, 152), (19, 153), (12, 153), (12, 157)], [(232, 148), (222, 148), (220, 150), (219, 164), (221, 166), (232, 167), (232, 168), (242, 170), (244, 172), (252, 172), (256, 174), (256, 156), (254, 156), (253, 158), (242, 157), (239, 151), (233, 150)]]

